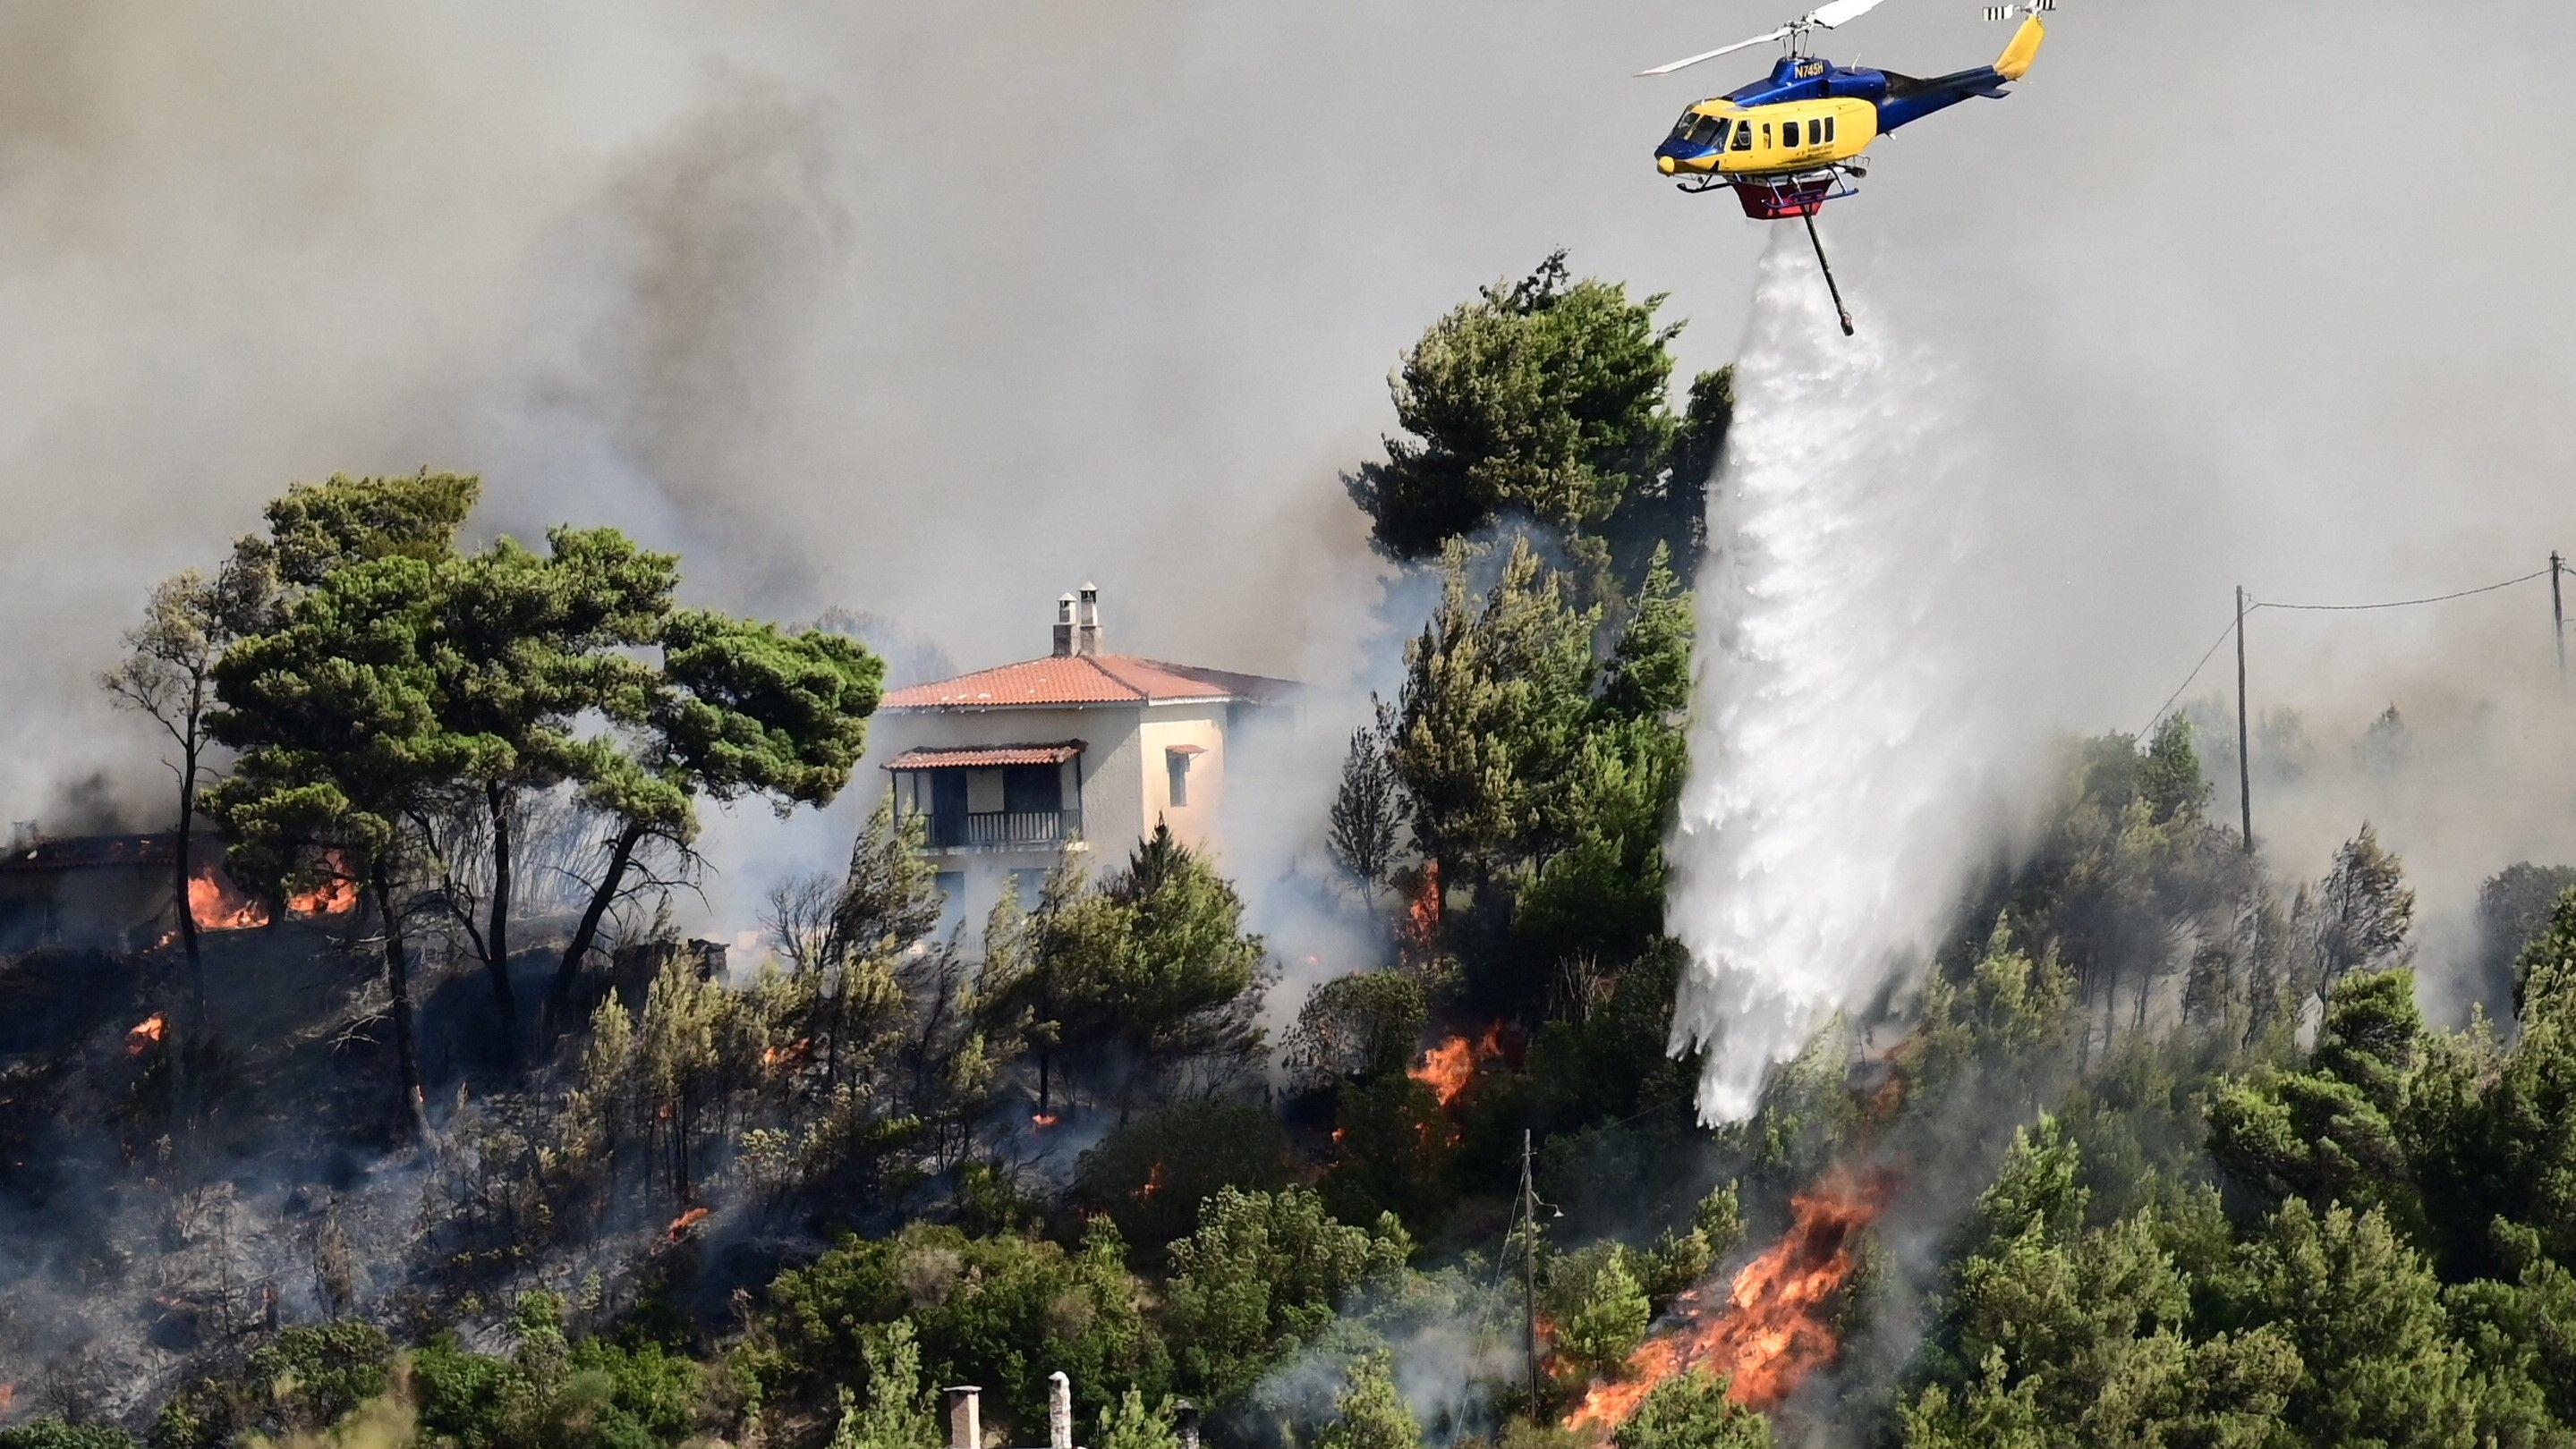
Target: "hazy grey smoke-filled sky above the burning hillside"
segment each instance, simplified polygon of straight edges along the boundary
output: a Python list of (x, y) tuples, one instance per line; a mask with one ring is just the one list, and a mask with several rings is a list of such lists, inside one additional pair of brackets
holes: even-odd
[[(2331, 18), (2324, 18), (2331, 15)], [(144, 739), (85, 679), (147, 584), (330, 471), (482, 471), (706, 602), (958, 664), (1113, 646), (1329, 677), (1376, 564), (1337, 471), (1427, 319), (1548, 247), (1734, 355), (1765, 229), (1649, 152), (1765, 64), (1747, 0), (0, 8), (0, 806)], [(1829, 51), (1981, 64), (1965, 0)], [(1991, 649), (2136, 726), (2226, 615), (2576, 548), (2576, 18), (2066, 0), (2030, 82), (1878, 147), (1826, 234), (1994, 476)], [(2545, 669), (2530, 592), (2285, 620), (2293, 692)], [(2432, 610), (2427, 610), (2432, 613)], [(2275, 615), (2280, 618), (2280, 615)], [(2563, 736), (2561, 736), (2563, 741)]]

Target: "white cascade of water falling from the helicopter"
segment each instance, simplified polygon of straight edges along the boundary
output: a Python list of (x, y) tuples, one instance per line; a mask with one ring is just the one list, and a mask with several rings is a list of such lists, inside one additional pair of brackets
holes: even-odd
[(1674, 1048), (1708, 1048), (1713, 1122), (1909, 978), (1989, 839), (1978, 759), (2002, 741), (1971, 723), (1958, 649), (1971, 476), (1924, 368), (1878, 319), (1842, 337), (1806, 237), (1777, 229), (1708, 499), (1672, 842)]

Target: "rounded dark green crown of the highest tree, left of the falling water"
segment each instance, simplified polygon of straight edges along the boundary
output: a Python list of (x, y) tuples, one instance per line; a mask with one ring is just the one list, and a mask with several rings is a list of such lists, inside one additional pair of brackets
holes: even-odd
[(1388, 381), (1409, 438), (1345, 479), (1378, 548), (1427, 558), (1504, 512), (1597, 530), (1656, 481), (1680, 332), (1654, 322), (1662, 301), (1569, 281), (1556, 252), (1435, 322)]

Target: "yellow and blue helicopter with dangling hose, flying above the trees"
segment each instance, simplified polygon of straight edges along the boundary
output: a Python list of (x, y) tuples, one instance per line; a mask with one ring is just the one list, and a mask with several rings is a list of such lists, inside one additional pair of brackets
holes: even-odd
[(1744, 214), (1757, 221), (1790, 216), (1806, 221), (1806, 237), (1816, 247), (1824, 286), (1834, 293), (1844, 337), (1852, 335), (1852, 311), (1842, 304), (1834, 265), (1824, 257), (1816, 214), (1824, 211), (1826, 201), (1857, 193), (1852, 183), (1868, 175), (1865, 152), (1878, 136), (1960, 100), (2002, 100), (2007, 85), (2030, 75), (2048, 33), (2040, 15), (2053, 13), (2058, 0), (1986, 5), (1989, 21), (2022, 18), (2012, 44), (1994, 64), (1932, 80), (1893, 69), (1844, 67), (1808, 54), (1808, 36), (1847, 26), (1878, 5), (1880, 0), (1826, 0), (1770, 33), (1638, 72), (1641, 77), (1672, 75), (1705, 59), (1788, 41), (1767, 77), (1682, 111), (1672, 134), (1654, 149), (1654, 167), (1680, 178), (1680, 188), (1687, 193), (1734, 190)]

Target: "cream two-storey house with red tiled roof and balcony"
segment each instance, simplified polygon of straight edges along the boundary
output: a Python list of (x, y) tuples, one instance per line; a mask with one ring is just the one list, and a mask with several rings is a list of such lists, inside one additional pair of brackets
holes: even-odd
[[(1064, 849), (1115, 867), (1154, 824), (1216, 844), (1229, 741), (1298, 685), (1103, 649), (1100, 589), (1056, 600), (1043, 659), (891, 690), (871, 754), (896, 811), (922, 816), (948, 927), (1038, 885)], [(943, 927), (945, 929), (945, 927)]]

